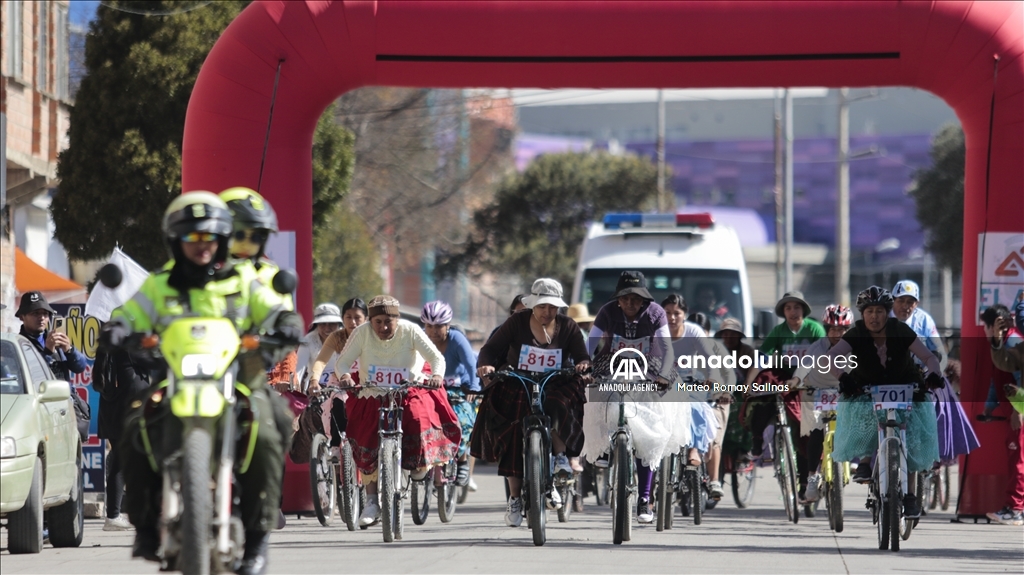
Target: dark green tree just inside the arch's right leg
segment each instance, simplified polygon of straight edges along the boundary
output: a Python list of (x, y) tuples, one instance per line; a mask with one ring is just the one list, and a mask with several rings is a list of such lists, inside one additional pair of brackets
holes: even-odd
[(932, 166), (918, 170), (910, 191), (918, 221), (928, 232), (925, 248), (940, 266), (959, 274), (964, 263), (964, 130), (943, 126), (932, 140)]

